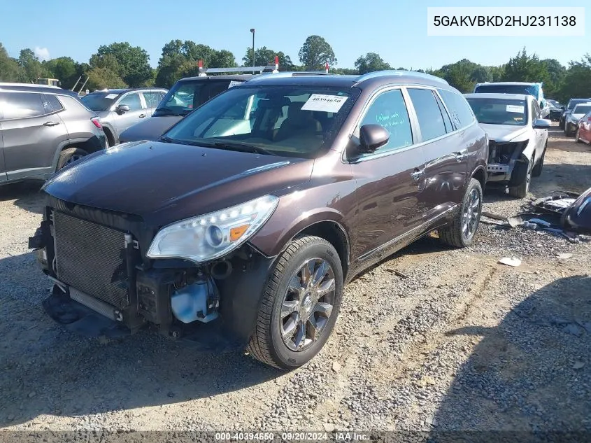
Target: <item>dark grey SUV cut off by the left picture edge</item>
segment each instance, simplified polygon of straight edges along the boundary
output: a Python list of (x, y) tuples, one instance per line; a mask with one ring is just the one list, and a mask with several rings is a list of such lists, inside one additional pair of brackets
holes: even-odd
[(45, 181), (106, 147), (98, 115), (59, 87), (0, 83), (0, 184)]

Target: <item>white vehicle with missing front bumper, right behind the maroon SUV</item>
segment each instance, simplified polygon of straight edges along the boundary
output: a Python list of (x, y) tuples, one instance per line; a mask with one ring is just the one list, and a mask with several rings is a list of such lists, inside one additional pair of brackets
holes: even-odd
[(488, 136), (487, 188), (523, 198), (542, 173), (550, 120), (527, 94), (464, 94)]

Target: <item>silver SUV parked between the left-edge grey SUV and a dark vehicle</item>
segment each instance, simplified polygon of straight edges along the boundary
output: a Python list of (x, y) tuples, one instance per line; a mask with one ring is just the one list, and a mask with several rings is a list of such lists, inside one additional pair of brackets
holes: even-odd
[(152, 116), (166, 92), (157, 87), (110, 89), (91, 92), (80, 101), (99, 115), (108, 144), (113, 146), (125, 129)]

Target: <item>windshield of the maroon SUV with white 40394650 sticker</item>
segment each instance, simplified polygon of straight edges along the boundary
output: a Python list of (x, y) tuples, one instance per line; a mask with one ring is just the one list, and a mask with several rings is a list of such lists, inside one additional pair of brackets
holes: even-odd
[(358, 95), (350, 87), (232, 87), (164, 136), (178, 143), (315, 158), (339, 132)]

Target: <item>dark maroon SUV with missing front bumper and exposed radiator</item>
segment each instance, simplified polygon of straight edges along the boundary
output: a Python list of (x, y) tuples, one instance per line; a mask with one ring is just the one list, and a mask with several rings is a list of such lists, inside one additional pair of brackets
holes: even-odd
[(467, 101), (433, 76), (253, 78), (158, 141), (45, 183), (29, 239), (55, 283), (45, 310), (92, 335), (206, 335), (211, 322), (264, 363), (299, 367), (353, 276), (432, 230), (473, 243), (486, 153)]

